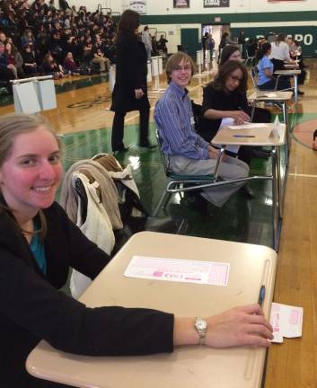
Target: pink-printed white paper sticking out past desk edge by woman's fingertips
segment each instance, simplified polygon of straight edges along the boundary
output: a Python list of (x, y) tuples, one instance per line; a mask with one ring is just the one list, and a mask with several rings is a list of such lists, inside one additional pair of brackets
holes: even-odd
[(272, 342), (283, 342), (283, 337), (302, 337), (303, 307), (272, 303), (270, 323), (273, 326)]

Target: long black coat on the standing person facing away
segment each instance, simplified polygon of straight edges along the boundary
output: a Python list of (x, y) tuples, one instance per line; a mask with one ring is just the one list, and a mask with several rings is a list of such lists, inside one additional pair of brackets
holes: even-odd
[[(130, 111), (150, 107), (147, 99), (146, 50), (136, 34), (127, 33), (116, 46), (116, 84), (112, 93), (111, 110)], [(142, 89), (145, 95), (136, 99), (135, 89)]]

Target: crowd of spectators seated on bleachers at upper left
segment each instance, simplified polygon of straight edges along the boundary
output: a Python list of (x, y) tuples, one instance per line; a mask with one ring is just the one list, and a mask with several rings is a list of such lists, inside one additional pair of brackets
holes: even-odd
[(109, 14), (76, 10), (66, 0), (0, 0), (0, 80), (77, 75), (81, 67), (84, 74), (93, 63), (96, 72), (108, 70), (116, 27)]

